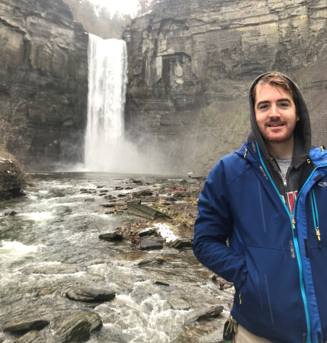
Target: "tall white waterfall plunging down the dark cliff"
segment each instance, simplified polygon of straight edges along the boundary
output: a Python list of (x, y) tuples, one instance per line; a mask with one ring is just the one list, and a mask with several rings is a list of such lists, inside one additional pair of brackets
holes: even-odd
[(88, 116), (84, 164), (88, 171), (121, 171), (127, 83), (126, 43), (88, 35)]

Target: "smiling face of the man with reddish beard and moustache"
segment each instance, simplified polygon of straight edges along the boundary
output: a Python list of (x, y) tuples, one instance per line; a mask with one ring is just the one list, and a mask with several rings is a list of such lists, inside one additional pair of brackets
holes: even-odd
[(296, 115), (293, 97), (274, 84), (258, 84), (254, 104), (256, 123), (268, 143), (288, 143), (293, 139)]

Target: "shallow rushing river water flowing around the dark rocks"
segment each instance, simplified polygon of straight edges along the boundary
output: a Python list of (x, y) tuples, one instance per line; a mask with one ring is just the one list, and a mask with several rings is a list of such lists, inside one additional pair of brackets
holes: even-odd
[[(112, 174), (31, 175), (23, 198), (0, 204), (0, 324), (26, 316), (48, 318), (40, 333), (50, 342), (56, 320), (92, 307), (104, 325), (87, 342), (220, 342), (232, 302), (192, 250), (141, 252), (130, 241), (99, 235), (138, 220), (108, 213), (104, 195), (180, 185), (182, 178)], [(193, 182), (193, 183), (192, 183)], [(196, 180), (188, 180), (193, 187)], [(10, 212), (14, 215), (10, 215)], [(137, 263), (149, 256), (143, 266)], [(155, 263), (161, 257), (164, 263)], [(108, 287), (116, 297), (88, 304), (66, 298), (72, 287)], [(203, 305), (223, 305), (217, 318), (185, 325), (186, 314)], [(0, 333), (0, 342), (14, 342)]]

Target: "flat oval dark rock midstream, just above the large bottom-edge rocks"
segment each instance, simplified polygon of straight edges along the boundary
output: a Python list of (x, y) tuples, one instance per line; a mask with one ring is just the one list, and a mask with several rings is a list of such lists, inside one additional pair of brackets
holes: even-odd
[(116, 294), (111, 289), (80, 287), (69, 290), (66, 296), (71, 300), (99, 303), (112, 300)]

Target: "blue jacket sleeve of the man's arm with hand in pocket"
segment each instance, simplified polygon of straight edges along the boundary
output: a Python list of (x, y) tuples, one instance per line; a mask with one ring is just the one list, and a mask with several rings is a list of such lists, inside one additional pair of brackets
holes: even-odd
[[(197, 203), (193, 251), (199, 262), (239, 290), (245, 283), (245, 255), (226, 244), (234, 224), (223, 161), (210, 171)], [(237, 195), (236, 195), (237, 196)]]

